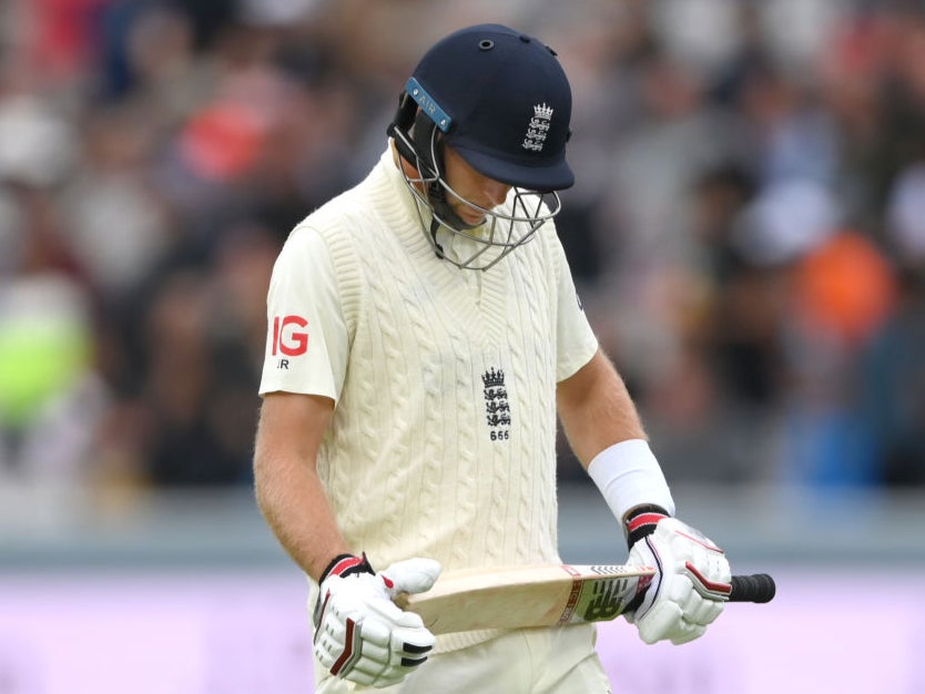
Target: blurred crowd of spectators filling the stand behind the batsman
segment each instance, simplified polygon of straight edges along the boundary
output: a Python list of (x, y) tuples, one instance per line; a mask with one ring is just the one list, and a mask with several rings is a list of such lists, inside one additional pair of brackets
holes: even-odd
[(275, 255), (479, 21), (571, 78), (559, 233), (669, 479), (925, 484), (919, 7), (6, 0), (0, 484), (250, 484)]

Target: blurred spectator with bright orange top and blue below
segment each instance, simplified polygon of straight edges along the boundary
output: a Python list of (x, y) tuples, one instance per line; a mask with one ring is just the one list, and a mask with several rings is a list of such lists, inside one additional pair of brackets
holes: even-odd
[(786, 479), (822, 488), (876, 483), (882, 462), (855, 402), (861, 355), (894, 308), (884, 254), (840, 231), (794, 267), (787, 330)]

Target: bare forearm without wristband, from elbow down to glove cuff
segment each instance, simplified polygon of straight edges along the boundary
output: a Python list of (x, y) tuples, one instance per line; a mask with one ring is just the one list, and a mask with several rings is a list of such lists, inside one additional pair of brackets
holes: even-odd
[(321, 576), (332, 558), (349, 552), (324, 488), (304, 462), (254, 460), (257, 504), (286, 552), (308, 575)]

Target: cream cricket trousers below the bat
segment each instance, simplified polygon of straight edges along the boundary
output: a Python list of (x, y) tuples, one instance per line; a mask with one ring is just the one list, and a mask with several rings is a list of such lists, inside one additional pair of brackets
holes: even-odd
[[(610, 694), (594, 651), (597, 627), (530, 629), (431, 655), (404, 682), (377, 690), (322, 678), (316, 694)], [(318, 667), (317, 662), (315, 667)]]

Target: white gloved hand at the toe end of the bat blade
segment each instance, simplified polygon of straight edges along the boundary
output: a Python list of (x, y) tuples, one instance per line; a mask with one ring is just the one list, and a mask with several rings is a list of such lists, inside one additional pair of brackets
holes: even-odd
[(322, 576), (315, 605), (315, 655), (333, 675), (375, 687), (396, 684), (427, 660), (434, 635), (392, 599), (429, 590), (433, 559), (408, 559), (375, 573), (366, 557), (345, 555)]

